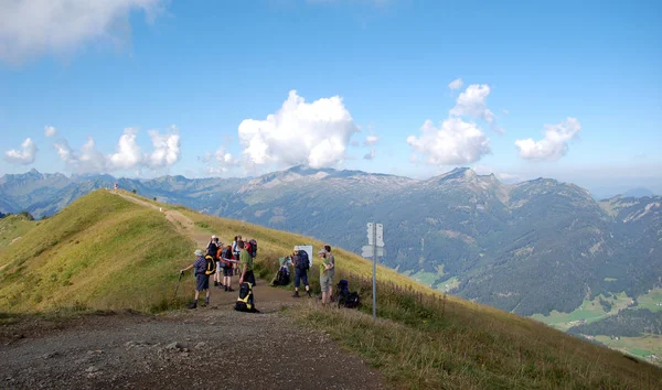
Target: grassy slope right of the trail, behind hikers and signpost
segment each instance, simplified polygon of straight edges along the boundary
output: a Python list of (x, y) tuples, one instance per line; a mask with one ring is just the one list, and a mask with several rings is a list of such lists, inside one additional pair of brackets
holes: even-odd
[[(224, 242), (236, 234), (256, 238), (263, 275), (295, 245), (323, 243), (247, 223), (182, 210)], [(637, 388), (662, 387), (662, 370), (579, 340), (536, 321), (495, 308), (442, 297), (393, 270), (380, 268), (377, 313), (370, 315), (370, 261), (334, 250), (337, 279), (350, 279), (364, 300), (363, 312), (305, 305), (290, 313), (298, 322), (329, 333), (348, 349), (380, 368), (394, 384), (406, 388)], [(316, 259), (317, 260), (317, 259)], [(313, 290), (319, 271), (312, 269)], [(340, 277), (340, 278), (339, 278)]]

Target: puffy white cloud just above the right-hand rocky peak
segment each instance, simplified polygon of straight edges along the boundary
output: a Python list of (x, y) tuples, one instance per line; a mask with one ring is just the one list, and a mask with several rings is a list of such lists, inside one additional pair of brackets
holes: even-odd
[(420, 137), (407, 137), (414, 152), (426, 156), (433, 165), (459, 165), (479, 161), (490, 153), (490, 140), (476, 123), (449, 118), (440, 128), (427, 120)]

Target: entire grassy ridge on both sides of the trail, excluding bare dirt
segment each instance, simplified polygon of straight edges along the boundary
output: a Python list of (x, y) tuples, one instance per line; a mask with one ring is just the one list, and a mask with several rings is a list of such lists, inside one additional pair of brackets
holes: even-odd
[[(147, 199), (136, 196), (137, 199)], [(149, 202), (156, 205), (152, 202)], [(199, 236), (236, 234), (259, 242), (257, 270), (269, 278), (295, 245), (322, 242), (243, 221), (177, 209)], [(78, 305), (163, 307), (194, 243), (161, 213), (105, 191), (45, 220), (0, 253), (0, 311)], [(200, 231), (202, 230), (202, 232)], [(197, 238), (200, 240), (200, 238)], [(446, 296), (380, 268), (372, 322), (371, 262), (335, 249), (337, 279), (361, 292), (361, 311), (322, 308), (317, 301), (287, 310), (378, 368), (397, 387), (414, 389), (659, 389), (662, 370), (622, 354), (495, 308)], [(316, 259), (317, 260), (317, 259)], [(173, 272), (174, 270), (174, 272)], [(313, 290), (319, 271), (312, 268)], [(259, 296), (257, 296), (259, 302)], [(259, 306), (259, 303), (258, 303)], [(342, 368), (339, 367), (339, 375)]]

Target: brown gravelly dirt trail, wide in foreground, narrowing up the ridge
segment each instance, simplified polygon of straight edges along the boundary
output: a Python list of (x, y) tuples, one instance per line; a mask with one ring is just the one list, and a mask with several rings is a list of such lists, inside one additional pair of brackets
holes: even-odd
[[(159, 207), (118, 193), (143, 206)], [(206, 247), (210, 235), (177, 210), (168, 220)], [(235, 279), (236, 283), (236, 279)], [(184, 277), (179, 294), (192, 295)], [(233, 310), (237, 292), (212, 286), (207, 307), (162, 315), (114, 312), (0, 326), (2, 389), (385, 389), (382, 377), (323, 332), (280, 314), (291, 292), (259, 280), (261, 313)], [(181, 296), (181, 295), (180, 295)]]

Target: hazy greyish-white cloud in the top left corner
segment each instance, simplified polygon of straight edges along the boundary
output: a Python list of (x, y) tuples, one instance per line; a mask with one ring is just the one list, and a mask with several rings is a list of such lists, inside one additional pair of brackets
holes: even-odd
[(0, 59), (21, 63), (66, 53), (94, 40), (115, 44), (131, 33), (130, 14), (152, 20), (161, 0), (1, 0)]

